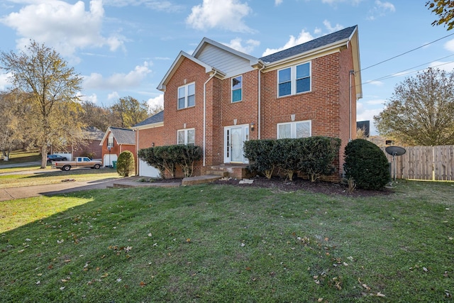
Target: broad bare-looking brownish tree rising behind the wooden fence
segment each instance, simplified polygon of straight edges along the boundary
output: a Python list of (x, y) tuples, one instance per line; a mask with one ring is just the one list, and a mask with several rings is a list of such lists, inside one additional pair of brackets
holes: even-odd
[(429, 68), (405, 79), (374, 120), (380, 135), (409, 145), (454, 144), (454, 74)]

